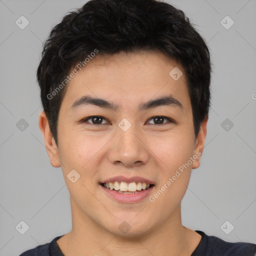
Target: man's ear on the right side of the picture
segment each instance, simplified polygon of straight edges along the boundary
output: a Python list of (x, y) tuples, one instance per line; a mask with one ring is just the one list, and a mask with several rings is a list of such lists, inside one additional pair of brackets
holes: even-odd
[(204, 141), (205, 141), (205, 137), (206, 137), (207, 121), (208, 121), (208, 117), (206, 117), (202, 121), (202, 123), (200, 125), (198, 135), (197, 135), (196, 140), (195, 140), (193, 155), (197, 156), (197, 158), (192, 163), (192, 169), (196, 169), (200, 166), (200, 157), (201, 157), (201, 154), (202, 154), (202, 151), (203, 151)]

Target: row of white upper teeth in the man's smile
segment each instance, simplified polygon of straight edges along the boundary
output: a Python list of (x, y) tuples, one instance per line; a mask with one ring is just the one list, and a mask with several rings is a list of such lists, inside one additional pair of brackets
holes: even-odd
[(114, 189), (114, 190), (120, 190), (120, 191), (130, 191), (134, 192), (136, 190), (141, 190), (141, 189), (147, 189), (149, 187), (149, 184), (146, 183), (141, 183), (141, 182), (124, 182), (124, 181), (114, 181), (114, 182), (107, 182), (103, 183), (103, 186), (109, 189)]

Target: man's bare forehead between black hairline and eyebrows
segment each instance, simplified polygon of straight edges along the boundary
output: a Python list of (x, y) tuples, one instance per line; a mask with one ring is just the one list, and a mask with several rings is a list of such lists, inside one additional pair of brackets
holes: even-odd
[(172, 95), (188, 107), (182, 66), (158, 51), (96, 55), (69, 81), (63, 100), (69, 109), (83, 95), (109, 99), (118, 109)]

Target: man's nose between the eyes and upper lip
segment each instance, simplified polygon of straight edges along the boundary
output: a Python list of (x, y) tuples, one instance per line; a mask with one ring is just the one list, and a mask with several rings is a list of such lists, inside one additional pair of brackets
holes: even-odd
[(117, 129), (108, 151), (108, 160), (115, 165), (134, 167), (149, 160), (149, 149), (145, 137), (138, 132), (135, 125), (123, 131)]

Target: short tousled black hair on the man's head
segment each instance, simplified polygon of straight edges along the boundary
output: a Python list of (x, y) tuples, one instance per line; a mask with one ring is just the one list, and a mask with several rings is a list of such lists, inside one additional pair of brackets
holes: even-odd
[(159, 0), (89, 0), (52, 28), (37, 68), (40, 98), (56, 144), (60, 104), (75, 65), (85, 66), (92, 52), (140, 50), (161, 51), (185, 70), (197, 136), (208, 117), (211, 63), (206, 42), (189, 18)]

